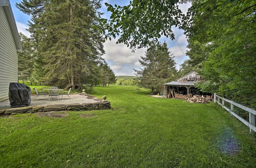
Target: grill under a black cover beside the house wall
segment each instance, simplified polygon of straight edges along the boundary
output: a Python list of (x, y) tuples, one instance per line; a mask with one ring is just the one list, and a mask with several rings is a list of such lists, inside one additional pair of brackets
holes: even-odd
[(23, 107), (30, 105), (31, 89), (22, 83), (10, 83), (9, 101), (11, 107)]

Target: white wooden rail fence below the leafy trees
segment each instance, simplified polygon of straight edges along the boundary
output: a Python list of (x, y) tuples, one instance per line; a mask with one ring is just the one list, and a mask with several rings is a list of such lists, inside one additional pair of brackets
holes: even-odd
[[(222, 102), (220, 101), (220, 99), (222, 100)], [(225, 101), (230, 103), (230, 109), (225, 106)], [(241, 104), (238, 104), (238, 103), (233, 102), (231, 100), (220, 97), (220, 96), (216, 95), (216, 93), (214, 94), (214, 102), (215, 103), (217, 102), (218, 104), (220, 104), (222, 106), (222, 108), (225, 108), (230, 113), (230, 115), (233, 115), (238, 120), (240, 120), (242, 123), (247, 125), (250, 128), (250, 133), (251, 133), (251, 131), (256, 132), (255, 117), (254, 117), (256, 115), (256, 110), (255, 109), (246, 107), (244, 105), (241, 105)], [(237, 106), (237, 107), (249, 112), (249, 122), (233, 112), (234, 106)]]

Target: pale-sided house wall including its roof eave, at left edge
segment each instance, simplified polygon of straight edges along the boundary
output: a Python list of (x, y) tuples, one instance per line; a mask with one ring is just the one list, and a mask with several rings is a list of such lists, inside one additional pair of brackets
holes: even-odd
[(18, 82), (18, 54), (22, 51), (10, 2), (0, 0), (0, 101), (8, 99), (9, 83)]

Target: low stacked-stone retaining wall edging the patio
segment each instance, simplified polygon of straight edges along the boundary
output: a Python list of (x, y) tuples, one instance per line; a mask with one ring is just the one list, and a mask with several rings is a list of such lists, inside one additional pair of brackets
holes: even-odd
[(111, 104), (108, 101), (99, 101), (95, 103), (75, 103), (75, 104), (52, 104), (46, 106), (26, 106), (16, 108), (0, 109), (0, 115), (16, 115), (21, 113), (37, 113), (57, 110), (100, 110), (110, 109)]

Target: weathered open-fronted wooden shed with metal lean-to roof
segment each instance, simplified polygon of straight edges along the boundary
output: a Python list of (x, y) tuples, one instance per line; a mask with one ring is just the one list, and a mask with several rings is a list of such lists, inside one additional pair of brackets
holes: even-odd
[(195, 87), (195, 83), (201, 80), (201, 76), (196, 71), (191, 71), (176, 81), (164, 83), (166, 94), (172, 98), (187, 99), (190, 95), (210, 96), (210, 93), (201, 92)]

